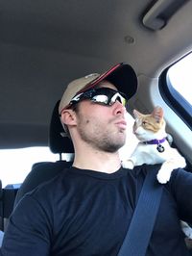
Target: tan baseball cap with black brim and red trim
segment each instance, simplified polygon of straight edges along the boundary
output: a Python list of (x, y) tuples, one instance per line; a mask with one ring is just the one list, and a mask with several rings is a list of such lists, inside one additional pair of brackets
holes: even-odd
[(70, 102), (74, 96), (93, 89), (103, 80), (113, 84), (117, 90), (124, 92), (127, 99), (130, 99), (137, 90), (137, 77), (130, 64), (116, 64), (103, 74), (93, 73), (76, 79), (68, 84), (64, 91), (59, 106), (59, 113), (70, 107)]

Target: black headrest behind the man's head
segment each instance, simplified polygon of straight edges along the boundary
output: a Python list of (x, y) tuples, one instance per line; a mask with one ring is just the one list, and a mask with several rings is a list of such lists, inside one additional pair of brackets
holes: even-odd
[(74, 153), (73, 142), (68, 137), (61, 136), (61, 134), (63, 134), (63, 127), (60, 123), (59, 105), (60, 100), (56, 103), (51, 117), (49, 129), (49, 147), (50, 150), (55, 154)]

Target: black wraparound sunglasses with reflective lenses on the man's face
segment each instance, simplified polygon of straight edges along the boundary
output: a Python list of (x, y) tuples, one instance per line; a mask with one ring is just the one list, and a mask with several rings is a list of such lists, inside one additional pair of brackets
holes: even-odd
[(92, 102), (107, 106), (113, 105), (118, 100), (124, 107), (126, 107), (128, 102), (126, 94), (121, 91), (109, 88), (98, 88), (85, 90), (84, 92), (77, 94), (72, 98), (69, 104), (74, 105), (84, 99), (89, 99)]

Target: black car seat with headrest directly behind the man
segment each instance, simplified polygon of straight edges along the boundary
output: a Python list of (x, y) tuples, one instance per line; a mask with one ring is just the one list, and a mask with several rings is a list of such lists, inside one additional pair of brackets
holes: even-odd
[(62, 153), (73, 154), (74, 147), (72, 141), (67, 136), (63, 136), (63, 127), (60, 123), (60, 116), (58, 112), (59, 105), (60, 100), (57, 102), (51, 117), (49, 128), (49, 147), (54, 154), (60, 155), (60, 160), (57, 162), (40, 162), (32, 166), (32, 170), (27, 175), (16, 194), (14, 207), (26, 192), (32, 191), (39, 184), (55, 177), (63, 168), (72, 165), (71, 162), (63, 161), (61, 159)]

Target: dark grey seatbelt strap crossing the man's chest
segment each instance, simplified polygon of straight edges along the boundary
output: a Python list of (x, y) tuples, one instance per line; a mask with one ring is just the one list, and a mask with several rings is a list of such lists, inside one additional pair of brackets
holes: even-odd
[(153, 232), (162, 194), (156, 181), (158, 166), (149, 168), (140, 192), (132, 221), (118, 256), (145, 256)]

